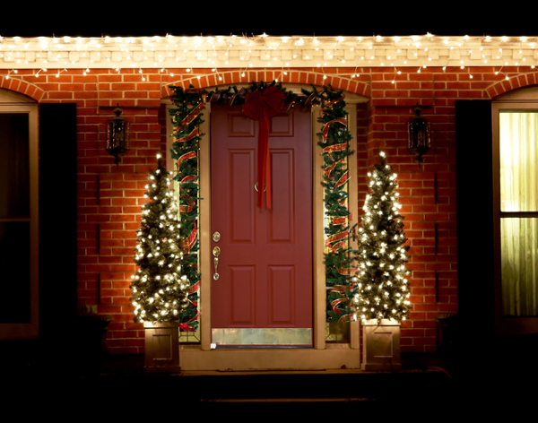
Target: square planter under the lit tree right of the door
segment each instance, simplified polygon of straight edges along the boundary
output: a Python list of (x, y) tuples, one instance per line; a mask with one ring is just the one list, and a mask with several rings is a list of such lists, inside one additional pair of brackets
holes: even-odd
[(383, 319), (362, 324), (362, 370), (401, 370), (400, 324)]

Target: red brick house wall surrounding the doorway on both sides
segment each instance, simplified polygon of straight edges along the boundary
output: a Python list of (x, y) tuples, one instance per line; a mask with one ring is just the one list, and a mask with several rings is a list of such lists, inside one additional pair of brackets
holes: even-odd
[[(97, 304), (112, 315), (108, 349), (115, 353), (143, 352), (143, 327), (132, 323), (128, 289), (135, 272), (135, 230), (143, 203), (145, 177), (155, 154), (166, 145), (166, 110), (161, 99), (169, 84), (212, 87), (251, 81), (332, 84), (369, 99), (358, 108), (359, 209), (366, 194), (366, 172), (377, 149), (386, 151), (398, 173), (405, 231), (411, 246), (412, 314), (403, 324), (403, 351), (436, 350), (435, 315), (457, 311), (456, 263), (456, 99), (489, 99), (536, 83), (528, 67), (400, 69), (239, 70), (54, 70), (19, 71), (7, 78), (0, 71), (0, 88), (18, 91), (40, 102), (77, 104), (78, 298), (80, 305)], [(359, 73), (351, 78), (352, 73)], [(178, 76), (179, 75), (179, 76)], [(506, 80), (506, 76), (511, 78)], [(199, 76), (199, 78), (198, 78)], [(221, 80), (219, 79), (221, 78)], [(432, 123), (434, 148), (419, 167), (406, 149), (406, 122), (416, 103)], [(131, 148), (119, 164), (104, 151), (105, 122), (119, 103), (132, 124)], [(98, 236), (99, 233), (99, 236)], [(99, 245), (98, 245), (99, 241)]]

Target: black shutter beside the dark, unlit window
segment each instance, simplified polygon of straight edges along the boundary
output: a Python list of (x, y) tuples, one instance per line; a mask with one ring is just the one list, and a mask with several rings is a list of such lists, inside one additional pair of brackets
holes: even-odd
[[(39, 105), (40, 338), (64, 338), (77, 314), (76, 105)], [(59, 334), (61, 331), (61, 334)]]

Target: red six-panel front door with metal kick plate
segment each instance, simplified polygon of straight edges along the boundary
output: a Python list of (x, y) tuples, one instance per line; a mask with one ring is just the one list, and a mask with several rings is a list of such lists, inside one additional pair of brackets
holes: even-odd
[(256, 186), (257, 136), (257, 121), (239, 108), (212, 106), (212, 250), (220, 248), (212, 342), (311, 346), (311, 115), (294, 110), (271, 119), (271, 210), (256, 207), (256, 189), (264, 189)]

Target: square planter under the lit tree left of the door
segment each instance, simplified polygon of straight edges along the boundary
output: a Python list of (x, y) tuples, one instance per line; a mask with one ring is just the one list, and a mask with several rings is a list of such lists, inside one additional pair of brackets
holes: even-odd
[(145, 369), (149, 372), (178, 373), (179, 324), (144, 322)]

